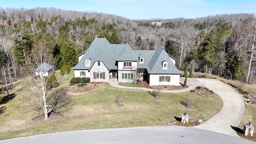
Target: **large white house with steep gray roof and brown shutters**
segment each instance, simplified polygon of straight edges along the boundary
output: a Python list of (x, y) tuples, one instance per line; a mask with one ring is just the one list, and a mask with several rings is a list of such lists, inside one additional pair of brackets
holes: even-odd
[(75, 77), (90, 77), (90, 82), (136, 82), (144, 75), (150, 86), (178, 86), (180, 74), (175, 58), (162, 47), (156, 50), (132, 50), (128, 44), (110, 44), (106, 38), (95, 38), (90, 47), (78, 55)]

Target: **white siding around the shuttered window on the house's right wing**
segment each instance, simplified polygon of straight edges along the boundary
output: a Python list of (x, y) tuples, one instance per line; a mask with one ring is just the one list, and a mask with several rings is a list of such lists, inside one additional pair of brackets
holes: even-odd
[[(159, 82), (160, 76), (170, 76), (170, 82)], [(150, 86), (180, 86), (179, 74), (149, 74)]]

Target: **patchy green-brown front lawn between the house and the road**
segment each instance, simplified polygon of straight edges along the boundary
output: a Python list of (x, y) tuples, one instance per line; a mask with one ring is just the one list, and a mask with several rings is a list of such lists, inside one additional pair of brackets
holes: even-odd
[[(64, 77), (56, 72), (60, 86), (68, 85)], [(70, 78), (72, 73), (70, 73)], [(16, 84), (16, 88), (26, 86), (26, 81)], [(73, 108), (65, 112), (60, 120), (32, 121), (42, 114), (22, 101), (24, 93), (17, 92), (16, 97), (6, 104), (6, 110), (0, 114), (0, 140), (32, 136), (53, 132), (86, 130), (99, 128), (126, 128), (136, 126), (165, 126), (174, 117), (181, 117), (185, 111), (192, 120), (206, 121), (218, 113), (223, 104), (218, 96), (204, 97), (188, 92), (160, 93), (161, 100), (154, 100), (148, 91), (128, 90), (105, 86), (80, 96), (72, 96)], [(117, 108), (116, 96), (124, 97), (124, 107)], [(193, 108), (184, 109), (180, 101), (187, 96), (194, 98)]]

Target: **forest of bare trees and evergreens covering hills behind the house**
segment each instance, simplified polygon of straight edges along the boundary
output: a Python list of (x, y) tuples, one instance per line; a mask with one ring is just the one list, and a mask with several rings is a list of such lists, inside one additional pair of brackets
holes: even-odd
[[(95, 37), (134, 50), (158, 46), (178, 59), (176, 66), (193, 64), (194, 71), (253, 83), (256, 80), (254, 14), (223, 14), (195, 19), (129, 20), (121, 16), (56, 8), (0, 8), (0, 64), (6, 81), (25, 76), (28, 60), (48, 62), (60, 69), (74, 66)], [(41, 54), (41, 55), (40, 55)], [(51, 56), (53, 59), (46, 59)], [(29, 61), (31, 63), (31, 61)]]

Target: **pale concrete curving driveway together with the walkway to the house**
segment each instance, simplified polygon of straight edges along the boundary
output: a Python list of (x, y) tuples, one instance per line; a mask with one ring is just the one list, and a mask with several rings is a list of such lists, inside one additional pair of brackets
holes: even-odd
[[(184, 82), (184, 78), (180, 79), (180, 82)], [(207, 79), (207, 78), (188, 78), (187, 85), (190, 87), (182, 90), (161, 90), (161, 92), (188, 92), (195, 89), (196, 86), (202, 86), (205, 84), (207, 88), (213, 90), (223, 101), (223, 108), (215, 116), (207, 120), (206, 122), (195, 126), (195, 128), (200, 128), (204, 130), (210, 130), (214, 132), (220, 132), (223, 134), (228, 134), (230, 136), (239, 137), (236, 132), (231, 128), (231, 126), (237, 127), (240, 124), (242, 117), (244, 115), (244, 100), (236, 92), (232, 86), (220, 82), (216, 79)], [(147, 90), (152, 91), (149, 88), (140, 88), (140, 87), (129, 87), (129, 86), (120, 86), (118, 82), (110, 82), (111, 86), (117, 88), (128, 88), (128, 89), (138, 89), (138, 90)]]

